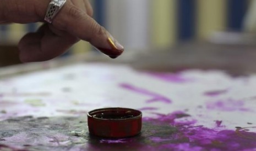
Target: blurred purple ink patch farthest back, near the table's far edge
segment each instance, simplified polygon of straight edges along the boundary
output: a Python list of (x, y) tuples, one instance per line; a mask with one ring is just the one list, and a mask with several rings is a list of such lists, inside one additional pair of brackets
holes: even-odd
[(180, 74), (173, 74), (173, 73), (155, 73), (155, 72), (149, 72), (147, 73), (151, 77), (155, 77), (161, 80), (164, 80), (166, 82), (172, 82), (172, 83), (185, 83), (185, 82), (191, 82), (191, 79), (183, 78)]

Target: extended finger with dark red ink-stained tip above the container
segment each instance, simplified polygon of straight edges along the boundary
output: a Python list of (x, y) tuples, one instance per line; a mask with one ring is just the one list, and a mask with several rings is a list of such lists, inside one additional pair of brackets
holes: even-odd
[(111, 58), (116, 58), (123, 53), (123, 46), (104, 27), (70, 1), (67, 1), (56, 18), (53, 19), (52, 25), (90, 42)]

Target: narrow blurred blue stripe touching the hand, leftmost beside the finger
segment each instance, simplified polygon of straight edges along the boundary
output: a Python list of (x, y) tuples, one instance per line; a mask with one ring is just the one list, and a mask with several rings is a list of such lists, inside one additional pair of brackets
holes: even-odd
[(94, 10), (95, 10), (94, 18), (101, 26), (105, 26), (105, 12), (106, 12), (105, 3), (106, 3), (106, 0), (94, 1)]

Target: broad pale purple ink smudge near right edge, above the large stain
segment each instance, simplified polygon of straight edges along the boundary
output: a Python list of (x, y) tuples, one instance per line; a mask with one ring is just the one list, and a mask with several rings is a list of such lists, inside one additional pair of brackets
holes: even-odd
[(244, 102), (242, 100), (220, 100), (216, 102), (208, 102), (206, 107), (208, 109), (218, 110), (218, 111), (249, 111), (248, 108), (243, 107)]

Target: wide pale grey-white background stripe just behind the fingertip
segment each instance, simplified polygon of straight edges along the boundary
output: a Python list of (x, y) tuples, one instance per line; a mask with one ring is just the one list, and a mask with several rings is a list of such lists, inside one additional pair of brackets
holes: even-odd
[(148, 0), (108, 0), (106, 28), (124, 47), (146, 49), (149, 44)]

